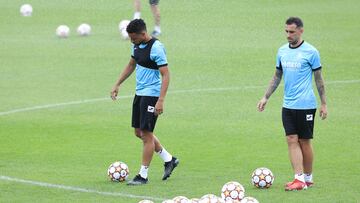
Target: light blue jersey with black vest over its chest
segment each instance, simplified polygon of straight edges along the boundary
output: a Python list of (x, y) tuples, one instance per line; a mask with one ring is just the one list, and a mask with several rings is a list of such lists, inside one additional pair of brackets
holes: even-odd
[(161, 89), (159, 68), (167, 66), (163, 44), (159, 40), (152, 39), (146, 44), (134, 45), (131, 56), (136, 61), (136, 95), (159, 97)]

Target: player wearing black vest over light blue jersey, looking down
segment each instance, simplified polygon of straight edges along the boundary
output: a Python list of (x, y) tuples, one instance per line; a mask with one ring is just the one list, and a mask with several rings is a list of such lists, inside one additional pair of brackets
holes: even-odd
[(170, 79), (164, 46), (147, 33), (146, 24), (142, 19), (132, 20), (126, 31), (134, 44), (131, 58), (110, 94), (111, 98), (116, 100), (120, 85), (135, 70), (136, 94), (133, 102), (132, 127), (135, 129), (135, 135), (143, 141), (143, 155), (140, 172), (128, 182), (128, 185), (141, 185), (148, 182), (148, 169), (154, 151), (165, 162), (163, 180), (170, 177), (179, 160), (165, 150), (153, 133), (156, 120), (163, 113)]

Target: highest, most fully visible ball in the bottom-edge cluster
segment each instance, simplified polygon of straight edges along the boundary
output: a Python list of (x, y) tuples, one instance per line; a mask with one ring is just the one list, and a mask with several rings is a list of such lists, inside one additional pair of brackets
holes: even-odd
[(245, 196), (245, 188), (238, 182), (226, 183), (221, 189), (221, 197), (226, 202), (239, 202)]

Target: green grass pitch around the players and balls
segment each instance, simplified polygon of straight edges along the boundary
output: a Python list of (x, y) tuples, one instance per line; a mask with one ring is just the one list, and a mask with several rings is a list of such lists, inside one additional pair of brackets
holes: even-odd
[[(142, 1), (142, 16), (152, 31), (147, 2)], [(33, 6), (32, 17), (20, 16), (23, 3)], [(130, 42), (121, 39), (117, 26), (132, 17), (132, 1), (0, 5), (0, 202), (131, 203), (141, 200), (136, 196), (161, 202), (220, 195), (228, 181), (242, 183), (246, 195), (260, 202), (360, 201), (357, 0), (161, 0), (160, 40), (171, 83), (155, 134), (181, 163), (163, 182), (163, 163), (154, 155), (149, 184), (142, 187), (106, 176), (109, 164), (121, 160), (133, 177), (141, 158), (142, 143), (130, 127), (134, 76), (121, 87), (123, 98), (109, 97), (130, 57)], [(283, 189), (293, 178), (281, 124), (283, 86), (265, 112), (256, 110), (275, 71), (277, 49), (286, 43), (289, 16), (302, 17), (304, 39), (320, 51), (329, 110), (327, 120), (317, 115), (315, 121), (316, 184), (300, 192)], [(89, 37), (76, 35), (83, 22), (92, 26)], [(68, 39), (55, 36), (60, 24), (70, 27)], [(68, 105), (14, 111), (61, 103)], [(276, 176), (268, 190), (250, 184), (250, 174), (261, 166)]]

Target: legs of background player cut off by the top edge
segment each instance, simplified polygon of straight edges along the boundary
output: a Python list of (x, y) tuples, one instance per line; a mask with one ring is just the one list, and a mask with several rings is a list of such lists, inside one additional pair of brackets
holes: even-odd
[[(151, 33), (151, 36), (158, 37), (161, 34), (159, 0), (149, 0), (149, 4), (155, 21), (154, 31)], [(134, 0), (134, 5), (135, 5), (134, 19), (140, 19), (141, 17), (140, 0)]]

